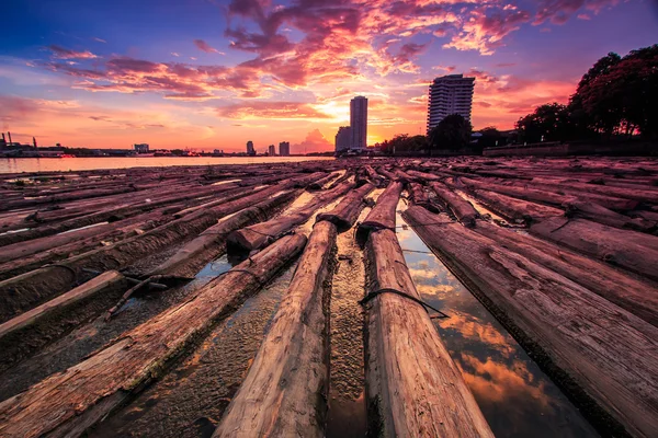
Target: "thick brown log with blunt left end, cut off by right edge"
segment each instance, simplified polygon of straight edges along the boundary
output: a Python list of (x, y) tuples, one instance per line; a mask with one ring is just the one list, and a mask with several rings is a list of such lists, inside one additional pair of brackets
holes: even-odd
[(546, 218), (530, 227), (542, 239), (658, 280), (658, 237), (587, 219)]

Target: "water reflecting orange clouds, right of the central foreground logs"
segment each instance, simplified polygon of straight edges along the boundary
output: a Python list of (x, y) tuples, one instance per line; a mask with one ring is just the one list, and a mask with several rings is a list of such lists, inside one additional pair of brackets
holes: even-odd
[[(400, 204), (399, 208), (404, 208)], [(405, 224), (398, 215), (398, 224)], [(434, 324), (497, 437), (591, 437), (594, 429), (410, 227), (398, 229), (422, 299), (449, 319)], [(418, 252), (411, 252), (418, 251)]]

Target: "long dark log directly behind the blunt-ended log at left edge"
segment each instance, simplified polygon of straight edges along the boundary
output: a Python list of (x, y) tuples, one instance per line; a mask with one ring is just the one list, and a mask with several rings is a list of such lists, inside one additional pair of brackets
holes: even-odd
[(188, 235), (201, 233), (218, 219), (266, 199), (287, 186), (269, 187), (220, 206), (197, 210), (144, 234), (0, 281), (0, 322), (69, 290), (77, 279), (84, 279), (82, 268), (99, 272), (123, 268)]

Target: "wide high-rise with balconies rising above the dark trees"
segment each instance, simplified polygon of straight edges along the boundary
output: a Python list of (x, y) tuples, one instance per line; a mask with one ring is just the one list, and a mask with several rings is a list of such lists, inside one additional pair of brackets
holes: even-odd
[(470, 120), (475, 78), (447, 74), (430, 84), (428, 102), (428, 132), (451, 114), (460, 114)]

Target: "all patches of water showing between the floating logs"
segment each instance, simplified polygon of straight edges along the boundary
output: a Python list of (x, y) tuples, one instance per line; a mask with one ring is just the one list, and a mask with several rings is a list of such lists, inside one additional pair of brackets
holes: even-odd
[[(373, 198), (382, 193), (377, 189)], [(304, 197), (304, 196), (303, 196)], [(294, 208), (299, 201), (288, 208)], [(338, 203), (321, 208), (328, 210)], [(540, 370), (512, 336), (429, 251), (399, 212), (397, 237), (423, 300), (450, 318), (434, 323), (497, 437), (593, 437), (594, 429)], [(370, 211), (365, 208), (360, 220)], [(315, 216), (298, 231), (309, 233)], [(363, 437), (366, 410), (363, 376), (363, 252), (353, 230), (338, 238), (331, 285), (331, 367), (327, 437)], [(226, 255), (208, 263), (186, 293), (240, 260)], [(91, 436), (209, 437), (245, 379), (295, 272), (287, 266), (259, 293), (219, 323), (188, 358), (127, 406), (105, 419)], [(122, 309), (152, 306), (136, 297)]]

